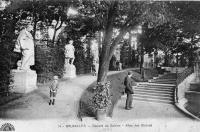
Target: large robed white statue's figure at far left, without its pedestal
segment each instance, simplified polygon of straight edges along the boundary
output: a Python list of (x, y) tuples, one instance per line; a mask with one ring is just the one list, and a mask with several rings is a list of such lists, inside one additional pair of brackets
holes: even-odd
[(14, 51), (22, 53), (21, 65), (18, 67), (19, 70), (30, 70), (30, 66), (35, 64), (34, 41), (33, 36), (30, 33), (32, 30), (33, 26), (31, 25), (28, 25), (23, 29), (15, 44)]

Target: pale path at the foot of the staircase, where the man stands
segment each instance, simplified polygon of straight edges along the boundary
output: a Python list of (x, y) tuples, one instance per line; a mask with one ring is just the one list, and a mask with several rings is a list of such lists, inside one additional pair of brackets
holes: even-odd
[(115, 106), (113, 120), (131, 121), (135, 119), (157, 119), (165, 121), (194, 121), (178, 110), (173, 104), (133, 100), (133, 108), (131, 110), (125, 110), (125, 102), (126, 95), (123, 95)]

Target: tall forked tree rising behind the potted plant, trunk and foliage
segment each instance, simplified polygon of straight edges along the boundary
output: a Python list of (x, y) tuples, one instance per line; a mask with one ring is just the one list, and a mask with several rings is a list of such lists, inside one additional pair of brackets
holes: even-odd
[[(106, 82), (110, 59), (123, 36), (138, 25), (155, 27), (170, 20), (165, 2), (147, 1), (83, 1), (83, 13), (90, 16), (104, 31), (98, 82)], [(119, 33), (114, 36), (114, 29)]]

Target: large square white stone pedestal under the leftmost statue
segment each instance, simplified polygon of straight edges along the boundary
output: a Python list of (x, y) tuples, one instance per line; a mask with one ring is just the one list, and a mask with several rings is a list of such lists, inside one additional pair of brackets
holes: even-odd
[(37, 89), (37, 74), (33, 70), (12, 70), (12, 86), (11, 92), (29, 93)]

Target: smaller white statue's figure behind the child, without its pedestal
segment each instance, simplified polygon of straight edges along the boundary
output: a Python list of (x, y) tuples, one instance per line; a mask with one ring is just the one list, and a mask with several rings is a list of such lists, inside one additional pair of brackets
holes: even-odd
[(75, 48), (73, 46), (73, 40), (70, 40), (69, 44), (65, 46), (65, 63), (66, 64), (73, 65), (74, 59), (75, 59), (74, 52), (75, 52)]

